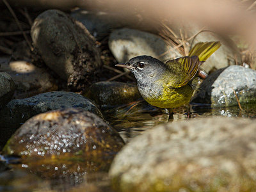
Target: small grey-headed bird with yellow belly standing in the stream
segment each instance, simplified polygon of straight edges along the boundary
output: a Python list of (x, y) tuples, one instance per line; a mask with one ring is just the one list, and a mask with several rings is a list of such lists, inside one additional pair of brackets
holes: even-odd
[[(199, 42), (188, 56), (163, 63), (151, 56), (136, 56), (116, 67), (128, 68), (137, 80), (138, 90), (149, 104), (166, 111), (180, 106), (189, 106), (189, 101), (198, 85), (199, 69), (211, 54), (220, 48), (220, 42)], [(190, 107), (188, 118), (190, 118)], [(168, 113), (170, 114), (170, 113)]]

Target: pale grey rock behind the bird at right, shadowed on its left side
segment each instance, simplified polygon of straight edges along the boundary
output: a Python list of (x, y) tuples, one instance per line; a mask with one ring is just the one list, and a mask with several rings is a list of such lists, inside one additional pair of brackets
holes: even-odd
[(237, 106), (237, 95), (241, 104), (255, 104), (255, 83), (255, 70), (237, 65), (221, 68), (200, 84), (191, 102), (209, 103), (212, 107)]

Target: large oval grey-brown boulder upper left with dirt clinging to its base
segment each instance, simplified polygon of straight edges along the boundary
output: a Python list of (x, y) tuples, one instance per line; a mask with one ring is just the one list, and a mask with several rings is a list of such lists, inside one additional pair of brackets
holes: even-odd
[(93, 36), (80, 22), (58, 10), (36, 17), (31, 28), (33, 44), (45, 61), (69, 86), (82, 89), (101, 66)]

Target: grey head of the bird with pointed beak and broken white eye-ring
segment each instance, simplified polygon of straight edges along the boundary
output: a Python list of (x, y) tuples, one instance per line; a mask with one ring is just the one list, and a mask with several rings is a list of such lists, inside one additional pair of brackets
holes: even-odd
[(117, 67), (129, 68), (137, 81), (159, 77), (166, 70), (163, 62), (150, 56), (137, 56), (127, 63), (120, 63)]

